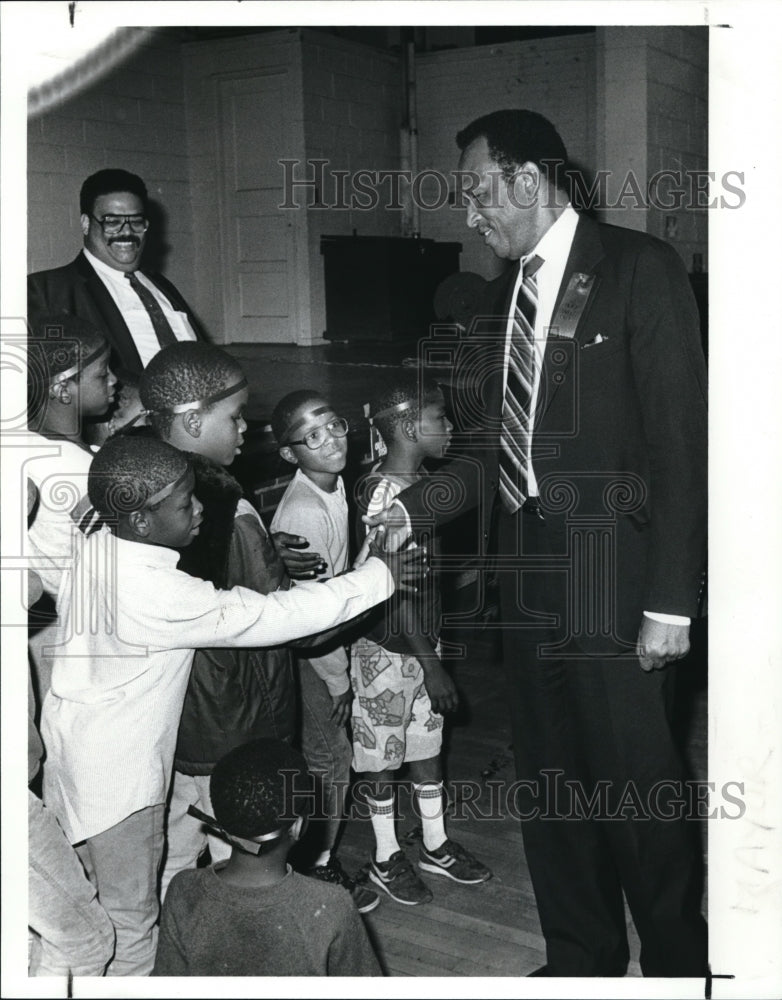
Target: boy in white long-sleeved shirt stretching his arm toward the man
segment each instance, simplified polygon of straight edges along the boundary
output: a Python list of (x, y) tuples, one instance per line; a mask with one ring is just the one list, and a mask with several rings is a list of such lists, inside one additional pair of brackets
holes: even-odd
[(58, 595), (63, 629), (41, 724), (44, 801), (114, 923), (108, 975), (152, 969), (165, 799), (194, 648), (287, 643), (385, 600), (401, 579), (401, 562), (373, 544), (379, 558), (325, 587), (216, 590), (176, 568), (177, 550), (199, 532), (194, 481), (170, 445), (110, 438), (88, 490), (111, 529), (85, 538), (74, 585)]

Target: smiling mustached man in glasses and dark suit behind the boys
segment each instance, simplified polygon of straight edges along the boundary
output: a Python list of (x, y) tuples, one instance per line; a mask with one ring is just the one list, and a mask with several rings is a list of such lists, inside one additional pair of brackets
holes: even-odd
[(70, 264), (29, 275), (28, 319), (66, 312), (90, 320), (120, 373), (140, 374), (161, 347), (199, 339), (174, 285), (140, 270), (149, 231), (144, 181), (127, 170), (99, 170), (82, 184), (79, 206), (84, 248)]

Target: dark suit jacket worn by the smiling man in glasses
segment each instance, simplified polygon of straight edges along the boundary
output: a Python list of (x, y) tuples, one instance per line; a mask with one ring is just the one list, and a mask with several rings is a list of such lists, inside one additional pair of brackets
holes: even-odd
[[(203, 331), (174, 285), (160, 274), (145, 271), (144, 275), (174, 309), (187, 315), (193, 332), (202, 339)], [(63, 267), (36, 271), (27, 277), (28, 320), (32, 323), (36, 315), (59, 312), (80, 316), (98, 327), (111, 345), (111, 365), (115, 370), (141, 374), (141, 358), (122, 313), (83, 253)]]

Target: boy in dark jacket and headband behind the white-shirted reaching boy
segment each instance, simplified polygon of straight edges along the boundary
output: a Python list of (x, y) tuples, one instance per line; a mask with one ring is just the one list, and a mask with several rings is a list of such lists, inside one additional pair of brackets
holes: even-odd
[[(199, 537), (182, 553), (179, 568), (217, 587), (287, 590), (290, 580), (266, 527), (223, 468), (239, 452), (247, 429), (247, 383), (237, 362), (211, 345), (171, 345), (145, 369), (141, 395), (155, 433), (192, 453), (204, 505)], [(230, 853), (224, 840), (188, 813), (190, 806), (211, 811), (209, 775), (217, 761), (261, 736), (292, 741), (297, 707), (289, 647), (196, 652), (177, 738), (164, 897), (178, 871), (196, 867), (207, 843), (213, 862)], [(359, 908), (366, 905), (366, 899), (354, 898)], [(372, 893), (369, 901), (376, 900)]]

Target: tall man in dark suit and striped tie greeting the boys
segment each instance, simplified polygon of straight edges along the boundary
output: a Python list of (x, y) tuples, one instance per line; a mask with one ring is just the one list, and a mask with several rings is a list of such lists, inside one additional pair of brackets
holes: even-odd
[(495, 112), (457, 143), (467, 224), (513, 266), (459, 350), (456, 422), (476, 446), (439, 490), (424, 481), (398, 500), (414, 526), (477, 505), (482, 551), (496, 553), (510, 805), (546, 939), (537, 974), (624, 975), (624, 892), (644, 975), (700, 976), (701, 863), (671, 732), (705, 561), (688, 277), (667, 244), (574, 211), (542, 116)]

